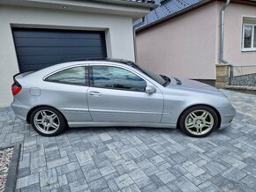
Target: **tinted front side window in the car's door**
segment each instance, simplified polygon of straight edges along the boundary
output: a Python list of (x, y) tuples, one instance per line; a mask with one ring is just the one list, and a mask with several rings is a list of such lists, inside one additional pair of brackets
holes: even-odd
[(132, 92), (145, 92), (147, 83), (129, 70), (111, 66), (93, 66), (94, 86)]

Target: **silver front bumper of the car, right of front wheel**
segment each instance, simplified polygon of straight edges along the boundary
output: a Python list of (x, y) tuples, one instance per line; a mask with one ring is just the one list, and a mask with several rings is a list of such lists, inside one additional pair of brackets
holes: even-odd
[(220, 129), (230, 127), (230, 125), (232, 125), (232, 120), (237, 114), (236, 109), (230, 106), (226, 108), (218, 108), (218, 111), (222, 118)]

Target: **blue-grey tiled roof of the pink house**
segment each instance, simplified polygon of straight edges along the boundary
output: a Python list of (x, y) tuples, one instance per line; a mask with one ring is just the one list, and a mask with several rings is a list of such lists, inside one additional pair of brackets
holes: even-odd
[[(200, 4), (204, 0), (156, 0), (157, 4), (160, 4), (159, 7), (155, 8), (153, 11), (150, 11), (146, 16), (144, 23), (138, 27), (136, 30), (150, 26), (157, 21), (162, 20), (172, 14), (177, 13), (178, 11), (183, 11), (184, 9), (192, 7), (192, 5)], [(134, 26), (141, 22), (141, 18), (134, 22)]]

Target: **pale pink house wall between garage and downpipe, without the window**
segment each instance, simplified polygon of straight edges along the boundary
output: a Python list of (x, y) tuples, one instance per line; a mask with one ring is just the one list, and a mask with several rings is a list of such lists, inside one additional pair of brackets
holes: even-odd
[(217, 9), (217, 3), (208, 4), (138, 33), (139, 63), (168, 76), (215, 79)]

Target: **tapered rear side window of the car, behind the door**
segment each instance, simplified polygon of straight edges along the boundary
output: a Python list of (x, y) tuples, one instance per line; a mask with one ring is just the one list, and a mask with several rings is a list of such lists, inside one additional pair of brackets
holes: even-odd
[(88, 85), (88, 68), (73, 67), (61, 70), (49, 76), (46, 80), (61, 84)]

